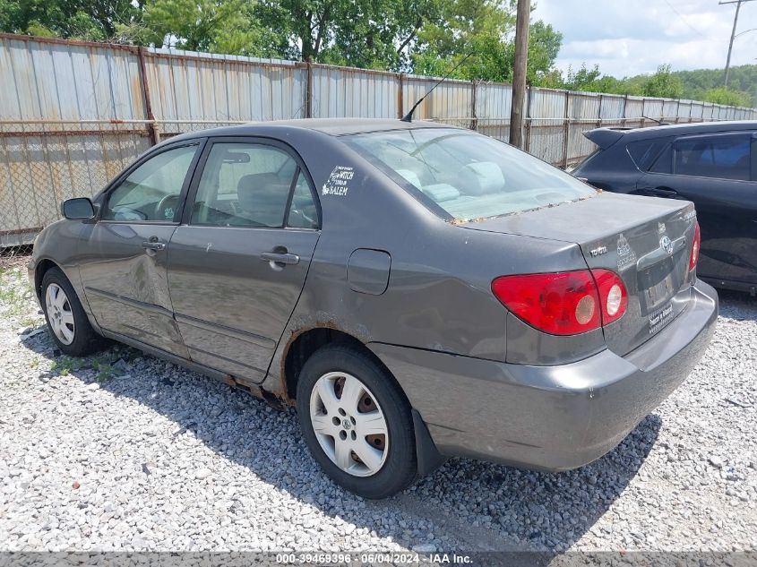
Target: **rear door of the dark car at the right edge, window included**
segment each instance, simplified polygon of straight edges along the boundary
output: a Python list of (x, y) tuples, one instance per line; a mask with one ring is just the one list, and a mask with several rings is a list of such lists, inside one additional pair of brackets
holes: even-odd
[(757, 281), (755, 142), (752, 132), (680, 137), (639, 181), (640, 194), (694, 203), (703, 278)]

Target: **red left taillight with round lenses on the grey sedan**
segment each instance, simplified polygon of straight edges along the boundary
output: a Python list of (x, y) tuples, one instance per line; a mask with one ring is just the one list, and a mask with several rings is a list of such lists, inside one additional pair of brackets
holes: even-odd
[(520, 319), (554, 335), (598, 329), (623, 316), (628, 305), (623, 280), (609, 270), (502, 276), (492, 291)]

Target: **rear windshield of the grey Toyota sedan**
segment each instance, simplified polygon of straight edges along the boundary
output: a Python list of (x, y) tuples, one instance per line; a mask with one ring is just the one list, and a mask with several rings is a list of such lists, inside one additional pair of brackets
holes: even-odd
[[(434, 210), (462, 221), (554, 206), (596, 192), (528, 153), (478, 133), (418, 128), (344, 138)], [(437, 211), (438, 212), (438, 211)]]

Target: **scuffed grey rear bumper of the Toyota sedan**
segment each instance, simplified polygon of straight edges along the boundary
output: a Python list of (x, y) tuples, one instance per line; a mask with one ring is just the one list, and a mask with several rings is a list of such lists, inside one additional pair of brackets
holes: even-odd
[(625, 357), (604, 350), (568, 365), (529, 366), (368, 346), (443, 454), (557, 471), (612, 450), (666, 399), (699, 362), (717, 318), (718, 296), (699, 281), (684, 313)]

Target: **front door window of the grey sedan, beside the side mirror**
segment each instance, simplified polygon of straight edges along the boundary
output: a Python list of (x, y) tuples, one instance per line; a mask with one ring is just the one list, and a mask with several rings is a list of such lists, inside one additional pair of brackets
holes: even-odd
[(198, 145), (160, 152), (134, 169), (110, 193), (102, 218), (137, 222), (174, 222), (181, 190)]

